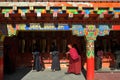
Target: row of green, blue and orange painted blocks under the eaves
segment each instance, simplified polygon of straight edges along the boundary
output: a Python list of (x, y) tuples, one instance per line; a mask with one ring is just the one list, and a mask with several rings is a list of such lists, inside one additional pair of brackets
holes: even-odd
[[(33, 11), (35, 13), (47, 13), (46, 9), (43, 8), (37, 8), (37, 9), (33, 9)], [(113, 11), (111, 10), (105, 10), (105, 9), (98, 9), (98, 10), (94, 10), (94, 9), (82, 9), (81, 12), (79, 12), (79, 9), (66, 9), (65, 10), (66, 13), (70, 14), (94, 14), (94, 11), (96, 12), (96, 14), (120, 14), (120, 9), (114, 9)], [(2, 9), (2, 14), (14, 14), (14, 10), (13, 9), (6, 9), (3, 8)], [(20, 14), (24, 14), (25, 13), (30, 13), (30, 9), (18, 9), (18, 13)], [(50, 13), (63, 13), (62, 9), (50, 9)]]

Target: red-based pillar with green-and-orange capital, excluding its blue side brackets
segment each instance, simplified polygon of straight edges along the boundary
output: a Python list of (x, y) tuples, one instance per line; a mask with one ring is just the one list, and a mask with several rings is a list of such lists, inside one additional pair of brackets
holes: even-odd
[(94, 80), (94, 41), (96, 40), (98, 30), (95, 25), (86, 26), (86, 56), (87, 56), (87, 80)]

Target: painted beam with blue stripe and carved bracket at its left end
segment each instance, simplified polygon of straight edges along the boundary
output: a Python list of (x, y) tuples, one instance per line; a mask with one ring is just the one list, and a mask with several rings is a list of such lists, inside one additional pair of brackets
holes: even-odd
[(7, 24), (8, 35), (16, 35), (17, 30), (70, 30), (68, 24), (44, 23), (44, 27), (40, 23), (30, 24), (16, 24), (14, 27), (12, 24)]

